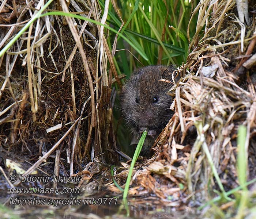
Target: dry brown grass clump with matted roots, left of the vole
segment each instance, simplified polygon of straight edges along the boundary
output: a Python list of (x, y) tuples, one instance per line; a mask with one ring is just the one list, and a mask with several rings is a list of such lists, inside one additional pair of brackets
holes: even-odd
[[(36, 16), (43, 3), (1, 4), (0, 48)], [(70, 3), (71, 13), (105, 23), (97, 1)], [(54, 10), (68, 8), (60, 1), (46, 9)], [(24, 175), (46, 161), (49, 169), (44, 173), (59, 174), (61, 169), (66, 176), (98, 156), (102, 162), (117, 162), (116, 145), (108, 144), (108, 139), (115, 142), (109, 103), (112, 75), (120, 81), (102, 30), (68, 16), (44, 16), (1, 56), (1, 157), (34, 163)], [(57, 169), (53, 170), (52, 161), (59, 164)]]

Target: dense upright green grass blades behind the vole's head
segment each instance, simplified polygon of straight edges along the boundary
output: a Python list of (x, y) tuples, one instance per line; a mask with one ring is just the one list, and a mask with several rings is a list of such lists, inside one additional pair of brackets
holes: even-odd
[[(103, 0), (99, 2), (103, 9)], [(124, 22), (120, 32), (133, 42), (136, 48), (144, 51), (148, 59), (142, 58), (135, 49), (127, 45), (126, 41), (118, 37), (117, 50), (121, 51), (117, 51), (114, 58), (120, 73), (125, 73), (129, 77), (139, 66), (181, 65), (186, 61), (191, 3), (184, 0), (120, 0), (117, 4), (117, 11)], [(122, 22), (113, 5), (110, 5), (108, 15), (107, 22), (119, 30)], [(192, 24), (192, 35), (193, 27), (195, 25)], [(109, 34), (110, 44), (113, 44), (115, 34)]]

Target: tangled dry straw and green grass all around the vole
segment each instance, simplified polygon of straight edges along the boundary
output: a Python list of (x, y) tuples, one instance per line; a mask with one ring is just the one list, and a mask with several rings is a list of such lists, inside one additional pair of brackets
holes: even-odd
[[(8, 202), (9, 188), (33, 187), (11, 182), (11, 174), (79, 176), (72, 186), (83, 189), (80, 199), (121, 197), (131, 165), (118, 110), (123, 78), (139, 66), (176, 64), (183, 77), (170, 91), (175, 113), (153, 156), (139, 157), (130, 171), (128, 198), (135, 199), (128, 199), (129, 206), (254, 218), (256, 4), (249, 0), (248, 5), (239, 0), (3, 0), (1, 203)], [(29, 208), (11, 212), (3, 205), (0, 212), (27, 217)], [(82, 215), (61, 207), (56, 212), (60, 218)], [(50, 209), (44, 214), (53, 216)]]

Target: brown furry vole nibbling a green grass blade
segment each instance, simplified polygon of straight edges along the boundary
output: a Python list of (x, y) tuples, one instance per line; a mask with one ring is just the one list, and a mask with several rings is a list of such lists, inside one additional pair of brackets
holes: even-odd
[[(124, 84), (120, 93), (124, 119), (134, 135), (132, 144), (137, 144), (142, 131), (148, 130), (141, 155), (148, 156), (150, 148), (173, 112), (170, 110), (172, 97), (168, 95), (172, 83), (159, 81), (161, 78), (173, 81), (174, 66), (147, 66), (137, 69)], [(175, 77), (177, 82), (179, 77)]]

